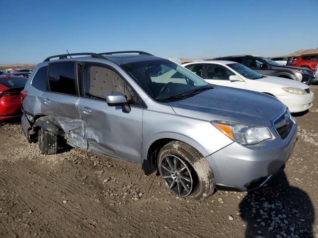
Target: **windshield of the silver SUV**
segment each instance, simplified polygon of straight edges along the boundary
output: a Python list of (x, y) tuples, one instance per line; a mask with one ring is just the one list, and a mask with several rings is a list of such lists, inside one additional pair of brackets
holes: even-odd
[(153, 60), (121, 65), (154, 99), (186, 97), (213, 88), (196, 74), (170, 60)]

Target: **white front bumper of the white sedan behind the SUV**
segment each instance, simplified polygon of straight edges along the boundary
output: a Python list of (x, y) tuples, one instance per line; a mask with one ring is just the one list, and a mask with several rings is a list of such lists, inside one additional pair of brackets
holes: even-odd
[(314, 93), (310, 92), (305, 95), (289, 94), (277, 96), (277, 99), (285, 104), (291, 113), (299, 113), (313, 107)]

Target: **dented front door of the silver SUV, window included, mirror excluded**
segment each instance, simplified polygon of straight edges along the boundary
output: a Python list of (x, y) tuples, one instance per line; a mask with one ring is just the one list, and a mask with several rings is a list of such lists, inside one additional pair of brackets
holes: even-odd
[[(88, 150), (141, 163), (143, 103), (140, 97), (116, 69), (95, 63), (84, 63), (82, 67), (79, 109)], [(106, 95), (113, 92), (126, 96), (131, 107), (129, 113), (124, 113), (121, 106), (107, 105)]]

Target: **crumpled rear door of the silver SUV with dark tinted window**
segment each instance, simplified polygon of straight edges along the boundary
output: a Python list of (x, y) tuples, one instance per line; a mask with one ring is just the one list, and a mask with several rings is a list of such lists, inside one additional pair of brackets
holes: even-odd
[(56, 120), (72, 146), (87, 149), (79, 114), (77, 62), (54, 62), (48, 65), (47, 90), (39, 96), (41, 112)]

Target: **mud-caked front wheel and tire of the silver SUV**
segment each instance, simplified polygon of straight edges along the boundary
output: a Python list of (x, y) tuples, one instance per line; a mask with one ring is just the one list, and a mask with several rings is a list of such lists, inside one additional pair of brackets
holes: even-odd
[(168, 189), (180, 197), (203, 200), (214, 192), (214, 175), (208, 161), (184, 142), (171, 141), (162, 147), (158, 169)]

